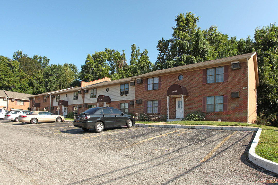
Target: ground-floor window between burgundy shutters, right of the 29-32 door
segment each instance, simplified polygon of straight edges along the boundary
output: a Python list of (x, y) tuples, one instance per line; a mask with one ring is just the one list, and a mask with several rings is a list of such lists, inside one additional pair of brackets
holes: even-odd
[(209, 96), (207, 97), (207, 112), (223, 112), (224, 111), (224, 96)]

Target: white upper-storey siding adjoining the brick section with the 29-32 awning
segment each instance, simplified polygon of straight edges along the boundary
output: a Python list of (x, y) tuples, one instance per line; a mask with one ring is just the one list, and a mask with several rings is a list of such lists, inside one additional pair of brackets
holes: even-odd
[(96, 103), (96, 100), (99, 95), (109, 96), (111, 102), (114, 101), (121, 101), (121, 100), (134, 100), (135, 98), (135, 86), (128, 86), (128, 95), (120, 95), (120, 84), (110, 85), (109, 91), (106, 92), (107, 87), (97, 87), (96, 88), (96, 98), (90, 98), (91, 96), (91, 89), (88, 89), (88, 93), (85, 93), (84, 103)]

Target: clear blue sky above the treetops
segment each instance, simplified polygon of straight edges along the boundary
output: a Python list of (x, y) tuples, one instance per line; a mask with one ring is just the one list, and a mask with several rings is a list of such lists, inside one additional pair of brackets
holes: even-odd
[[(199, 16), (201, 30), (212, 25), (230, 37), (253, 38), (256, 27), (277, 22), (277, 0), (234, 1), (0, 1), (0, 55), (22, 50), (47, 56), (49, 64), (73, 63), (81, 70), (88, 54), (131, 45), (148, 50), (155, 62), (158, 40), (172, 38), (179, 13)], [(278, 22), (277, 22), (278, 24)], [(277, 25), (276, 25), (277, 26)]]

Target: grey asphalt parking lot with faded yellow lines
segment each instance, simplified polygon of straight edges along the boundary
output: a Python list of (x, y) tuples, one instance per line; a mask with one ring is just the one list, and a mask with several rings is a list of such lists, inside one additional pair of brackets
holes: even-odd
[(0, 121), (0, 184), (278, 184), (248, 159), (255, 132), (153, 127), (84, 132)]

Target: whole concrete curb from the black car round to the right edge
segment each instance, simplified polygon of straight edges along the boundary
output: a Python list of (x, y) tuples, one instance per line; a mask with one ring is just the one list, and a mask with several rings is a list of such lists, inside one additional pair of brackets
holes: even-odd
[(135, 124), (133, 126), (142, 126), (142, 127), (157, 127), (157, 128), (190, 128), (190, 129), (211, 129), (211, 130), (238, 130), (238, 131), (257, 131), (257, 134), (252, 142), (252, 145), (249, 149), (249, 160), (264, 168), (268, 171), (278, 174), (278, 163), (274, 163), (267, 159), (264, 159), (258, 156), (255, 153), (255, 148), (258, 145), (259, 137), (262, 132), (261, 128), (253, 127), (253, 126), (209, 126), (209, 125), (171, 125), (171, 124), (157, 124), (157, 123), (150, 123), (150, 124)]

